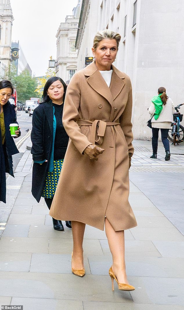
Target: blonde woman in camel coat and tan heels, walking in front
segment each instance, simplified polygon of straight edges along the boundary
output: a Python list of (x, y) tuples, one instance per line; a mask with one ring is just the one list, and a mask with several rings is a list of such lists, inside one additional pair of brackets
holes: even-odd
[(85, 224), (103, 230), (105, 222), (113, 270), (119, 284), (128, 285), (124, 230), (137, 223), (128, 201), (132, 88), (129, 77), (112, 65), (119, 41), (118, 33), (98, 32), (92, 48), (95, 61), (68, 85), (63, 124), (70, 140), (50, 215), (72, 220), (72, 272), (79, 276), (85, 274)]

